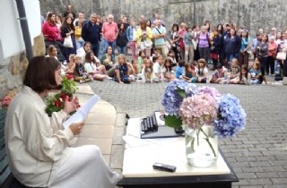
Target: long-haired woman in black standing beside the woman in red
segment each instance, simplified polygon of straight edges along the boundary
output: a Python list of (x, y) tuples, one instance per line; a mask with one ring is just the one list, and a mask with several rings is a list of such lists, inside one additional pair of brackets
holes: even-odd
[(76, 53), (76, 44), (75, 44), (75, 37), (74, 37), (74, 23), (72, 17), (65, 17), (63, 21), (63, 25), (61, 27), (61, 36), (62, 38), (66, 38), (71, 36), (73, 47), (65, 47), (65, 61), (69, 63), (69, 56), (70, 54)]

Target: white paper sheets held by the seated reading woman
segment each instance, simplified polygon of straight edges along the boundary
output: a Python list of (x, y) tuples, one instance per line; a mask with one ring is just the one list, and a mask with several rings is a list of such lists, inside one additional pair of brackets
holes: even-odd
[(66, 129), (73, 123), (83, 121), (91, 111), (91, 108), (100, 100), (98, 95), (93, 95), (74, 115), (70, 116), (64, 123), (63, 126)]

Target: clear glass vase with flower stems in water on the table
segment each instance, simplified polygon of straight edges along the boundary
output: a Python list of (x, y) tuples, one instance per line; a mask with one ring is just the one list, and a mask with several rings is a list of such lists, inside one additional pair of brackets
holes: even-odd
[(200, 129), (185, 126), (187, 163), (194, 167), (211, 167), (218, 158), (218, 137), (209, 125)]

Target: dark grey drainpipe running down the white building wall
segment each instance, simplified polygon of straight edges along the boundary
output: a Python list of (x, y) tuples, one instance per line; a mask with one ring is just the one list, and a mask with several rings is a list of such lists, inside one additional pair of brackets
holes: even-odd
[(21, 23), (23, 39), (24, 39), (24, 44), (26, 48), (26, 55), (27, 55), (28, 61), (30, 61), (30, 59), (33, 57), (33, 49), (32, 49), (32, 44), (30, 41), (30, 31), (28, 27), (25, 7), (24, 7), (24, 3), (22, 0), (15, 0), (15, 1), (16, 1), (18, 13), (19, 13), (18, 20), (20, 20), (20, 23)]

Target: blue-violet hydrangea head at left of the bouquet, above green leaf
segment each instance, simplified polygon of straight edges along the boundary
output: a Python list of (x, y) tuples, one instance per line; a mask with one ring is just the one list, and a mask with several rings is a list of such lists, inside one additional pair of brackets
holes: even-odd
[(178, 95), (178, 89), (185, 90), (186, 97), (191, 97), (197, 93), (195, 84), (182, 80), (170, 81), (161, 101), (162, 106), (169, 115), (178, 115), (179, 107), (183, 101), (183, 98)]

